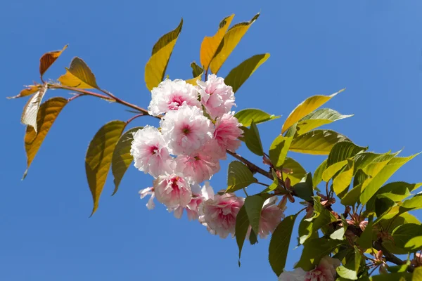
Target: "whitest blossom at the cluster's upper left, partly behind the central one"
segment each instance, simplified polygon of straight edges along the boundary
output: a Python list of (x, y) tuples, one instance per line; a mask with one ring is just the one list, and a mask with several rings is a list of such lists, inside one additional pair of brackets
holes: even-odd
[(158, 116), (170, 110), (177, 110), (183, 104), (200, 107), (198, 91), (191, 84), (181, 79), (165, 79), (151, 91), (151, 103), (148, 113)]

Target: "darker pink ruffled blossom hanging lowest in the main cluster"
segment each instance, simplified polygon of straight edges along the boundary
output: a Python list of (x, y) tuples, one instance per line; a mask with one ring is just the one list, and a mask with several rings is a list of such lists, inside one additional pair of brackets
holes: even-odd
[(200, 223), (207, 226), (212, 234), (226, 238), (229, 234), (234, 236), (236, 216), (243, 206), (244, 198), (237, 197), (234, 193), (215, 195), (200, 206)]

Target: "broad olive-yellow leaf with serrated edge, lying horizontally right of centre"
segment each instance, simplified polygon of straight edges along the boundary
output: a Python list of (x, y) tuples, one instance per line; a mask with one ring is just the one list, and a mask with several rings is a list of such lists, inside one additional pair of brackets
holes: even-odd
[(312, 155), (328, 155), (331, 148), (340, 141), (349, 139), (331, 130), (314, 130), (294, 138), (290, 151)]

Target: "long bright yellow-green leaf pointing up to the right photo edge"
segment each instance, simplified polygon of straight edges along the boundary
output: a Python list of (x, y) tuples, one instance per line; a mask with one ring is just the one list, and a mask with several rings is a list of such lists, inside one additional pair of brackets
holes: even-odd
[(362, 195), (360, 196), (360, 201), (362, 204), (366, 204), (366, 202), (368, 202), (368, 200), (371, 199), (371, 197), (376, 193), (378, 188), (380, 188), (381, 185), (385, 183), (385, 181), (388, 181), (388, 178), (390, 178), (390, 176), (392, 176), (395, 171), (409, 162), (409, 160), (416, 157), (416, 155), (411, 155), (409, 157), (395, 157), (391, 159), (388, 164), (386, 164), (383, 169), (372, 178), (369, 184), (363, 188)]

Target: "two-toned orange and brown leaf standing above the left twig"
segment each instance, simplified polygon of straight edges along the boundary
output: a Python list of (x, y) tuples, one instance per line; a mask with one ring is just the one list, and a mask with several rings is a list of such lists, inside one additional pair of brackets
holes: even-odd
[(66, 73), (60, 76), (58, 81), (64, 86), (73, 88), (98, 89), (95, 75), (82, 58), (73, 58), (70, 67), (66, 68)]

